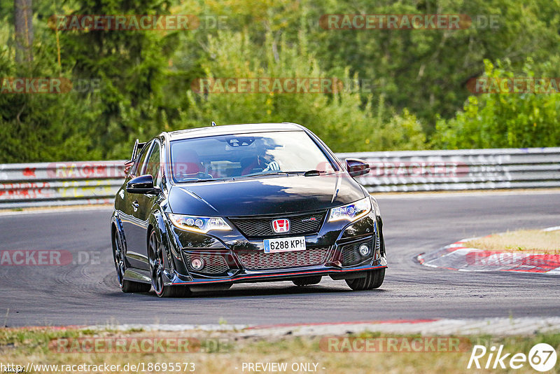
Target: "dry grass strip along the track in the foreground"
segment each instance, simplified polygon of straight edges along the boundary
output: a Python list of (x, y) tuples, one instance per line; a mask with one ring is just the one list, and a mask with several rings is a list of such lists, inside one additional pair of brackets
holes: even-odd
[[(419, 338), (420, 335), (387, 335), (384, 333), (358, 333), (342, 335), (350, 338)], [(55, 339), (76, 338), (129, 338), (134, 341), (152, 338), (195, 338), (200, 341), (199, 352), (73, 352), (58, 353), (49, 348), (49, 343)], [(99, 365), (101, 363), (195, 363), (196, 373), (248, 373), (242, 370), (242, 364), (254, 362), (283, 362), (288, 363), (285, 373), (293, 373), (290, 366), (293, 363), (318, 363), (317, 373), (500, 373), (505, 370), (467, 370), (467, 363), (472, 345), (481, 344), (504, 345), (505, 352), (521, 352), (528, 354), (533, 345), (547, 342), (556, 352), (560, 349), (560, 333), (493, 337), (479, 335), (463, 337), (470, 344), (461, 352), (326, 352), (325, 345), (321, 345), (321, 337), (297, 337), (284, 335), (274, 338), (255, 338), (248, 333), (239, 332), (163, 332), (163, 331), (113, 331), (113, 330), (76, 330), (54, 328), (4, 328), (0, 330), (0, 361), (3, 363), (18, 363), (26, 366), (29, 361), (45, 364), (80, 364)], [(52, 343), (51, 343), (52, 344)], [(52, 345), (51, 345), (52, 347)], [(560, 354), (559, 354), (560, 358)], [(482, 362), (482, 361), (481, 361)], [(549, 373), (559, 373), (560, 359), (556, 368)], [(237, 368), (237, 369), (236, 369)], [(323, 369), (324, 368), (324, 369)], [(87, 371), (85, 371), (87, 373)], [(154, 373), (164, 371), (153, 370)], [(167, 373), (170, 371), (167, 370)], [(524, 364), (524, 368), (511, 370), (514, 373), (535, 373)]]

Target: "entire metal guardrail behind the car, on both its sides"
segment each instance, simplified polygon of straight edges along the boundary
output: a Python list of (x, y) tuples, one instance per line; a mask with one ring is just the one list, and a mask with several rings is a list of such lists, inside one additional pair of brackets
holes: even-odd
[[(560, 148), (338, 153), (363, 158), (370, 192), (560, 187)], [(124, 161), (0, 165), (0, 209), (113, 202)]]

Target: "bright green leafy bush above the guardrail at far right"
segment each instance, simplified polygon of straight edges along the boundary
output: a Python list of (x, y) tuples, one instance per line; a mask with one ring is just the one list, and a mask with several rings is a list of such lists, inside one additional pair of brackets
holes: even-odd
[[(519, 77), (498, 61), (485, 60), (486, 78)], [(532, 61), (524, 76), (534, 77)], [(558, 146), (560, 139), (560, 95), (558, 93), (484, 93), (470, 96), (454, 118), (439, 118), (433, 147), (524, 148)]]

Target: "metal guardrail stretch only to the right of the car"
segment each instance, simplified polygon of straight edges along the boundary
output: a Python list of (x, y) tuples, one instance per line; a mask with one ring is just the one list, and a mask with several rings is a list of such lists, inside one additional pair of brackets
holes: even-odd
[(363, 158), (370, 192), (560, 187), (560, 148), (339, 153)]

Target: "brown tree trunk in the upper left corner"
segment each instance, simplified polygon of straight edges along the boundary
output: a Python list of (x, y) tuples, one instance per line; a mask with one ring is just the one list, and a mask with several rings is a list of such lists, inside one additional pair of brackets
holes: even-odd
[(15, 60), (32, 61), (33, 51), (33, 8), (32, 0), (14, 0)]

